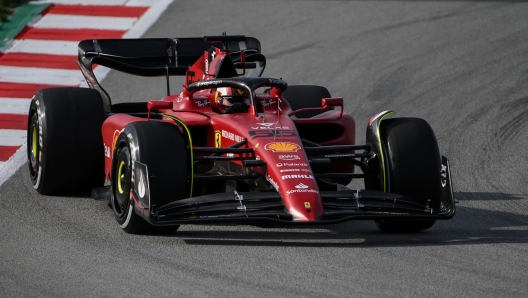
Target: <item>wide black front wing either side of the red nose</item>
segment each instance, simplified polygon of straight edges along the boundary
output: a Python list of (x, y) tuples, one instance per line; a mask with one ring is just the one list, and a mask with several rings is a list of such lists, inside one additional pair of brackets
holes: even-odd
[(317, 221), (293, 220), (292, 215), (284, 210), (277, 192), (225, 192), (179, 200), (154, 211), (139, 206), (136, 212), (153, 225), (266, 222), (317, 225), (348, 220), (450, 219), (455, 215), (455, 200), (446, 158), (443, 158), (443, 164), (442, 204), (438, 210), (398, 194), (345, 189), (321, 192), (325, 211)]

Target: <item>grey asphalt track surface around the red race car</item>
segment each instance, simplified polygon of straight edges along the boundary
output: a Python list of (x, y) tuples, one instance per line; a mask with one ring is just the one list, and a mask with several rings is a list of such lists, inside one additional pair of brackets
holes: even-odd
[[(255, 36), (266, 76), (345, 98), (360, 143), (382, 110), (429, 121), (457, 214), (417, 234), (356, 221), (134, 236), (103, 202), (37, 195), (23, 167), (0, 187), (0, 296), (525, 297), (527, 12), (522, 1), (176, 0), (147, 37)], [(165, 92), (163, 79), (115, 73), (103, 85), (114, 102)]]

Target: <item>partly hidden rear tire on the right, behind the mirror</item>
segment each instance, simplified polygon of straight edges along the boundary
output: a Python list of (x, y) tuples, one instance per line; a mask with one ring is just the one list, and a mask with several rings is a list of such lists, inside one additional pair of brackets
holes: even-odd
[[(288, 86), (282, 93), (282, 96), (290, 105), (292, 111), (303, 109), (303, 108), (320, 108), (321, 99), (330, 98), (330, 92), (328, 89), (322, 86), (316, 85), (292, 85)], [(331, 110), (329, 107), (321, 111), (306, 111), (295, 114), (297, 118), (310, 118), (315, 115), (319, 115), (325, 111)]]

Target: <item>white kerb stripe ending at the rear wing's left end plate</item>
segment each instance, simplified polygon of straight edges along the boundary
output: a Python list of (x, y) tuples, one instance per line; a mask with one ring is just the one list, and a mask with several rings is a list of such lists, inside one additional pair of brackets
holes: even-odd
[(78, 45), (76, 41), (22, 39), (15, 41), (7, 52), (77, 56)]

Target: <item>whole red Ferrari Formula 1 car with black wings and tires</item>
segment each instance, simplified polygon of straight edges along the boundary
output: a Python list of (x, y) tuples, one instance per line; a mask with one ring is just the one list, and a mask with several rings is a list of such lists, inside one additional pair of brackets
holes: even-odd
[[(95, 64), (165, 77), (167, 96), (112, 104)], [(91, 190), (127, 233), (356, 219), (415, 232), (455, 214), (449, 162), (426, 121), (381, 112), (358, 145), (343, 98), (261, 76), (255, 38), (84, 40), (78, 65), (90, 88), (43, 89), (31, 102), (31, 182), (41, 194)], [(174, 75), (185, 84), (171, 94)]]

